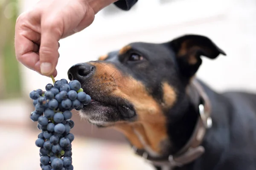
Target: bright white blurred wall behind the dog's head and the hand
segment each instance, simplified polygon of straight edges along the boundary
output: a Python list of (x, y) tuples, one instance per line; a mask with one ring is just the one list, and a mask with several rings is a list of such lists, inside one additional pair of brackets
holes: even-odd
[[(163, 1), (163, 0), (162, 0)], [(164, 42), (183, 34), (211, 38), (227, 57), (203, 59), (198, 77), (217, 91), (256, 92), (255, 0), (139, 0), (131, 11), (100, 11), (94, 23), (60, 41), (56, 79), (67, 78), (73, 64), (95, 60), (134, 41)], [(21, 11), (35, 3), (23, 0)], [(22, 67), (24, 94), (44, 88), (51, 79)]]

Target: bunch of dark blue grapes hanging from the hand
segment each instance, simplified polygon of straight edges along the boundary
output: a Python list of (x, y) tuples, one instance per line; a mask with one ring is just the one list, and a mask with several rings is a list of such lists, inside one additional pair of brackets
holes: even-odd
[(47, 84), (46, 91), (38, 89), (29, 94), (35, 106), (30, 119), (38, 122), (37, 127), (42, 131), (35, 141), (40, 147), (40, 166), (42, 170), (73, 170), (71, 110), (81, 110), (91, 97), (83, 92), (77, 80), (55, 81), (53, 77), (52, 80), (53, 85)]

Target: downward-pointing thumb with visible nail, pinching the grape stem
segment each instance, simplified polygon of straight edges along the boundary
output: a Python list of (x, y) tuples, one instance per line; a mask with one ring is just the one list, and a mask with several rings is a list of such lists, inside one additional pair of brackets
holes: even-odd
[[(61, 38), (61, 31), (49, 27), (42, 28), (41, 45), (39, 50), (41, 74), (50, 76), (54, 73), (58, 63), (58, 41)], [(52, 28), (52, 29), (51, 29)]]

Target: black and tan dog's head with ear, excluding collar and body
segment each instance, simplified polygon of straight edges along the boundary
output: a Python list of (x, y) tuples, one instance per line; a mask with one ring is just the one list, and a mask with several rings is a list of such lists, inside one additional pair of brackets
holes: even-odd
[(161, 44), (135, 42), (72, 66), (68, 77), (79, 80), (92, 97), (82, 117), (99, 127), (116, 127), (138, 148), (147, 144), (158, 154), (161, 145), (171, 145), (167, 126), (186, 108), (186, 87), (201, 56), (215, 59), (219, 54), (225, 55), (199, 35)]

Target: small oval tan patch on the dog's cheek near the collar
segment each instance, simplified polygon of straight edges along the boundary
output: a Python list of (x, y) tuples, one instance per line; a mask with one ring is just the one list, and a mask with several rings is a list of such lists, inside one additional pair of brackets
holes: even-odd
[(171, 108), (176, 101), (176, 93), (174, 88), (170, 86), (167, 82), (163, 82), (163, 107)]

